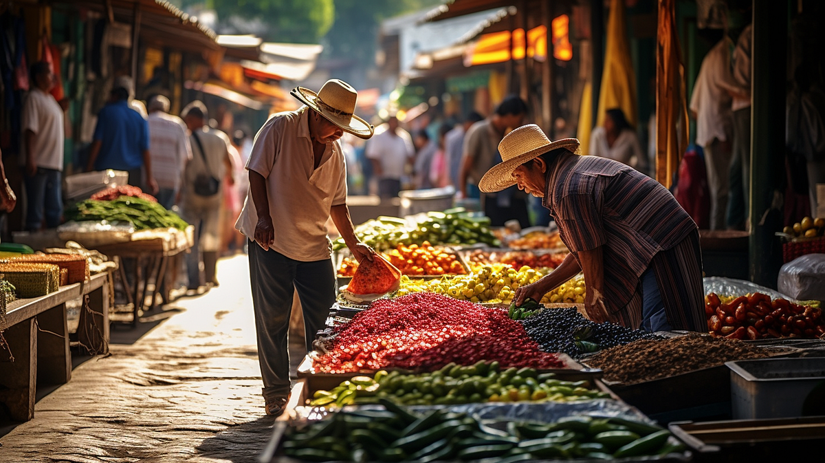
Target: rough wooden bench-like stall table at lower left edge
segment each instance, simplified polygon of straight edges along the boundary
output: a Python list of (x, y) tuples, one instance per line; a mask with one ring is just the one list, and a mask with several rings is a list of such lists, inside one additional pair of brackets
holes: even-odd
[[(49, 295), (19, 299), (6, 307), (0, 332), (0, 405), (15, 421), (34, 417), (37, 385), (61, 385), (72, 377), (66, 303), (84, 299), (78, 341), (92, 355), (109, 352), (111, 272), (61, 286)], [(87, 298), (87, 299), (86, 299)]]

